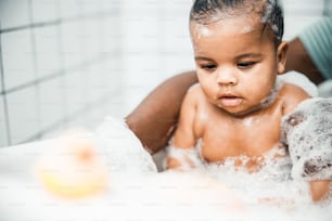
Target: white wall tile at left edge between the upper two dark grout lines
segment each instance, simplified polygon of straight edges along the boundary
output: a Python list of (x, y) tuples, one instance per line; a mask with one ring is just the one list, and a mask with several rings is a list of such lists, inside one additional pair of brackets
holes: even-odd
[(1, 46), (5, 89), (36, 79), (31, 42), (30, 29), (2, 34)]

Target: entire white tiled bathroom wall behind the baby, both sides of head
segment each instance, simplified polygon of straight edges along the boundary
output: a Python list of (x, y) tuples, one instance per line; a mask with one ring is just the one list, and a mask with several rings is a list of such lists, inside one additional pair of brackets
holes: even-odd
[[(192, 0), (0, 0), (0, 146), (125, 117), (193, 69)], [(284, 0), (285, 39), (331, 0)]]

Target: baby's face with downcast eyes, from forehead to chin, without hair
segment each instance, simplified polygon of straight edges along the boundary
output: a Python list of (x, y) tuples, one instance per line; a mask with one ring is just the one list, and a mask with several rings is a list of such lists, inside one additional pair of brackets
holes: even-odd
[(271, 34), (263, 30), (260, 20), (240, 15), (206, 25), (191, 22), (190, 31), (207, 99), (231, 114), (259, 108), (283, 70)]

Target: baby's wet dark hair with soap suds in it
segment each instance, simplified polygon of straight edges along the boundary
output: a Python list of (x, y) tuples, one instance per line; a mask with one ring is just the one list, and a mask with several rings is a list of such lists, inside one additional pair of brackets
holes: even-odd
[(279, 44), (283, 36), (283, 11), (278, 0), (195, 0), (190, 21), (205, 25), (252, 12), (260, 16), (263, 30), (270, 27)]

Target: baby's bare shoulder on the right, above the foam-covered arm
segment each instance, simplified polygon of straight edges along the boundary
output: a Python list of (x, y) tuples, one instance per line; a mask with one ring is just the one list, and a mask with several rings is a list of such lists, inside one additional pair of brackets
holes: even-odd
[(279, 98), (283, 104), (284, 114), (293, 110), (301, 102), (311, 98), (303, 88), (285, 82), (279, 92)]

